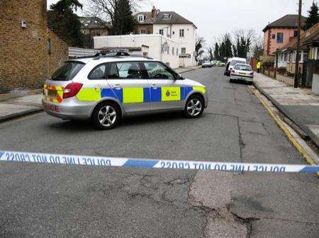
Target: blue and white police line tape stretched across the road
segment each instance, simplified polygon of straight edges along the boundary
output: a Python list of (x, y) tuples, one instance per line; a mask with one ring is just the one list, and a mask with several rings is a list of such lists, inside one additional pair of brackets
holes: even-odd
[(0, 151), (0, 161), (30, 162), (39, 164), (67, 164), (88, 166), (123, 166), (156, 169), (196, 169), (215, 171), (258, 171), (258, 172), (295, 172), (316, 173), (319, 166), (295, 164), (247, 164), (224, 162), (197, 162), (162, 159), (128, 159), (116, 157), (91, 157), (69, 154), (42, 154), (30, 152)]

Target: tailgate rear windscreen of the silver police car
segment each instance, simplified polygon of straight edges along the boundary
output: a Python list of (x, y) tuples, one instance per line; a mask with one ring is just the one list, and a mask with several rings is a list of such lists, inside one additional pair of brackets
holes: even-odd
[(77, 73), (84, 67), (83, 62), (68, 61), (57, 69), (51, 77), (53, 81), (69, 81), (72, 80)]

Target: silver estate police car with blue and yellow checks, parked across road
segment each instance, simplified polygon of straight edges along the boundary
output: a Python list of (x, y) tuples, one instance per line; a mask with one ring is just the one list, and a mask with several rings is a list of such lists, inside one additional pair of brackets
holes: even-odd
[(119, 52), (68, 60), (45, 81), (42, 103), (52, 116), (91, 119), (107, 130), (130, 115), (184, 111), (198, 118), (208, 96), (205, 86), (158, 60)]

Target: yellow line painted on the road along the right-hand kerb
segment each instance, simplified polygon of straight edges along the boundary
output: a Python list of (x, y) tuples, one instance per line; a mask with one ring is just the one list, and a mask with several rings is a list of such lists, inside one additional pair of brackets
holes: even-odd
[[(267, 112), (269, 113), (269, 115), (274, 119), (274, 121), (279, 126), (279, 128), (284, 131), (284, 133), (286, 134), (286, 136), (288, 137), (290, 142), (296, 147), (298, 152), (303, 155), (303, 157), (306, 159), (306, 162), (310, 165), (317, 165), (317, 164), (315, 164), (313, 159), (311, 159), (311, 157), (306, 152), (306, 150), (303, 149), (303, 147), (301, 147), (299, 142), (293, 137), (293, 135), (291, 135), (291, 132), (289, 132), (289, 130), (286, 128), (286, 126), (283, 123), (281, 123), (281, 120), (279, 120), (278, 116), (274, 114), (274, 112), (267, 105), (267, 103), (264, 101), (264, 99), (262, 99), (262, 97), (256, 93), (256, 89), (250, 89), (250, 91), (252, 92), (252, 94), (254, 94), (254, 96), (256, 96), (259, 99), (259, 101), (262, 102), (262, 105), (267, 109)], [(317, 176), (319, 176), (319, 173), (317, 173)]]

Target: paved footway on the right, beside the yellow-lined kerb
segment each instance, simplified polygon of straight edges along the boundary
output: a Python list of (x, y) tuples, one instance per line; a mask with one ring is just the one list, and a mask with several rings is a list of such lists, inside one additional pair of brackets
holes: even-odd
[(263, 74), (254, 74), (254, 85), (319, 148), (319, 96)]

